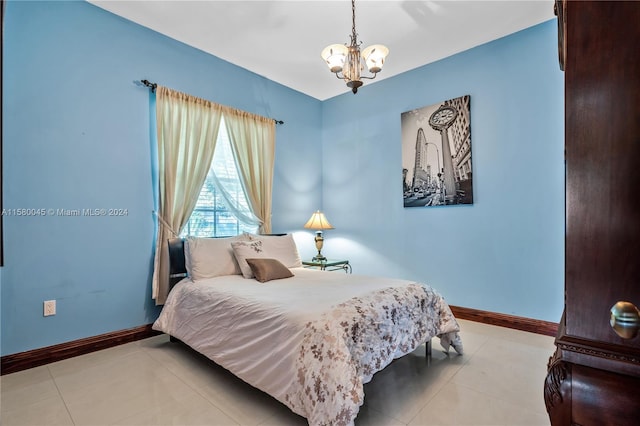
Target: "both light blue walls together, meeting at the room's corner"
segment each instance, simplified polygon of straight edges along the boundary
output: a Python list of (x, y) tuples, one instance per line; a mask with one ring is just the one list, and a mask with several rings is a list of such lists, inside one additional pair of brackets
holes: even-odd
[[(427, 282), (454, 305), (558, 321), (564, 175), (555, 43), (545, 23), (320, 102), (85, 2), (9, 1), (4, 207), (128, 215), (5, 216), (1, 353), (156, 318), (153, 109), (134, 83), (141, 78), (286, 122), (277, 128), (274, 231), (301, 231), (323, 208), (337, 228), (324, 251), (349, 258), (357, 273)], [(400, 114), (465, 94), (474, 205), (403, 208)], [(296, 239), (303, 256), (313, 253), (311, 233)], [(58, 314), (44, 318), (48, 299)]]

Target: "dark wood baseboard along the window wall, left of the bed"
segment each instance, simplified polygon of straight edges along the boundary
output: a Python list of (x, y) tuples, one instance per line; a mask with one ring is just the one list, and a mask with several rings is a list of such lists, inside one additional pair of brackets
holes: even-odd
[(147, 337), (161, 334), (151, 329), (151, 324), (128, 330), (114, 331), (98, 336), (60, 343), (12, 355), (5, 355), (0, 359), (0, 372), (2, 375), (15, 373), (40, 365), (49, 364), (63, 359), (84, 355), (124, 343), (146, 339)]

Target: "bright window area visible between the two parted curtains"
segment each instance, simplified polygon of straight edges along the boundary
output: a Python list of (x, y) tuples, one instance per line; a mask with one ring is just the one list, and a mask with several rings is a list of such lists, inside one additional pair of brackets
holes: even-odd
[(180, 236), (228, 237), (257, 230), (258, 220), (249, 209), (223, 117), (211, 168)]

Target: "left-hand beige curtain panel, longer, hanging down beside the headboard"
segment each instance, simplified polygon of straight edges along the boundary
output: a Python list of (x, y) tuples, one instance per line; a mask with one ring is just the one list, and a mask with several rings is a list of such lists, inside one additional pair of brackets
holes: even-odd
[(156, 89), (158, 132), (158, 240), (153, 265), (153, 298), (169, 294), (167, 240), (177, 236), (191, 216), (211, 167), (222, 106), (166, 87)]

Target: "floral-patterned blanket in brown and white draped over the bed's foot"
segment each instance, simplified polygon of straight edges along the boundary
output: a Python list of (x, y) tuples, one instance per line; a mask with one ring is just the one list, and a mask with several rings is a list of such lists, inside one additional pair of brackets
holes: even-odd
[(351, 425), (374, 373), (434, 336), (462, 353), (458, 331), (451, 309), (429, 286), (354, 297), (306, 323), (285, 402), (310, 425)]

